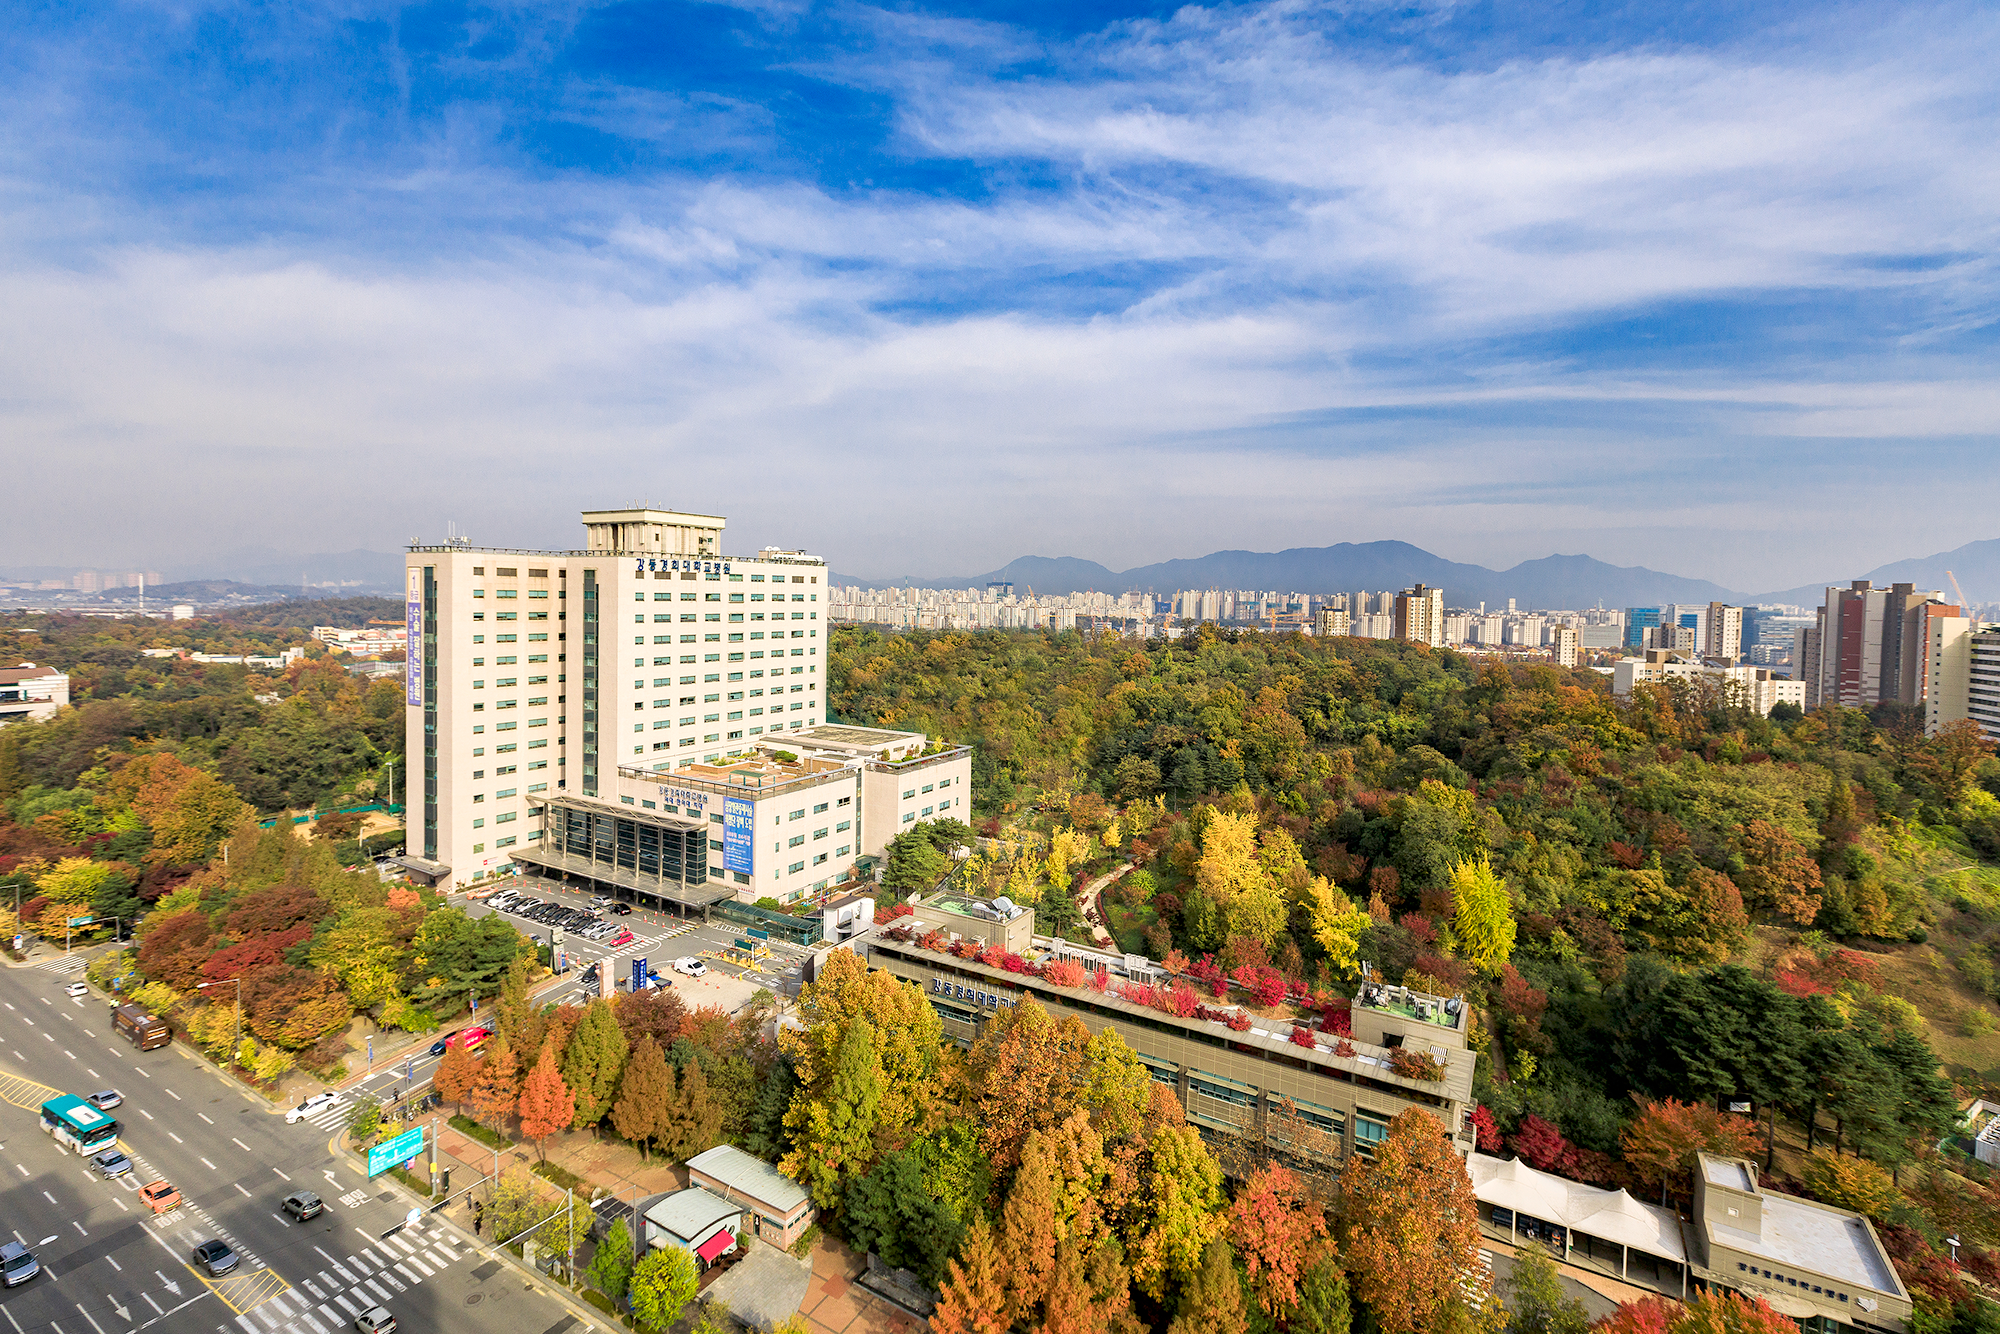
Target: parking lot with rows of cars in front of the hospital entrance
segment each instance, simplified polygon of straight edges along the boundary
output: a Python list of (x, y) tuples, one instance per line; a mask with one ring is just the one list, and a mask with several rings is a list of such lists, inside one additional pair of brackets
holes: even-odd
[[(540, 902), (526, 908), (526, 914), (520, 910), (522, 902), (518, 898), (494, 908), (492, 900), (502, 898), (506, 890), (514, 890), (524, 898)], [(572, 966), (570, 976), (576, 978), (578, 992), (594, 994), (594, 988), (586, 988), (582, 982), (584, 972), (592, 964), (608, 966), (616, 988), (630, 990), (632, 964), (636, 960), (646, 960), (650, 976), (672, 982), (690, 1006), (724, 1004), (734, 1010), (758, 988), (768, 988), (786, 996), (798, 992), (800, 960), (806, 952), (796, 946), (768, 942), (768, 958), (754, 962), (730, 960), (724, 958), (726, 952), (730, 952), (738, 940), (746, 938), (744, 930), (732, 922), (704, 924), (700, 916), (682, 918), (672, 912), (656, 912), (648, 908), (632, 908), (628, 914), (616, 914), (608, 908), (592, 906), (592, 898), (594, 894), (590, 892), (564, 886), (554, 880), (524, 876), (508, 882), (490, 898), (468, 900), (466, 910), (472, 916), (500, 912), (516, 928), (544, 942), (550, 940), (550, 932), (556, 930), (556, 926), (562, 926), (562, 950), (568, 954), (568, 962)], [(610, 926), (610, 930), (600, 932), (596, 940), (590, 940), (588, 936), (576, 934), (578, 926), (584, 930)], [(630, 932), (632, 938), (622, 944), (614, 944), (620, 930)], [(708, 970), (708, 976), (688, 978), (676, 974), (672, 964), (678, 958), (700, 960)], [(564, 992), (564, 998), (568, 996), (570, 992)]]

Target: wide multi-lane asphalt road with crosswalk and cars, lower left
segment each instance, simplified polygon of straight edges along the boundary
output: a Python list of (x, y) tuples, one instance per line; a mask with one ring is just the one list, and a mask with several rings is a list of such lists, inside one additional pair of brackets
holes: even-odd
[[(28, 1244), (44, 1268), (0, 1292), (0, 1334), (332, 1334), (374, 1306), (404, 1330), (446, 1334), (580, 1324), (542, 1284), (436, 1220), (384, 1238), (408, 1206), (328, 1152), (332, 1126), (288, 1126), (178, 1044), (138, 1052), (112, 1034), (102, 996), (64, 996), (70, 980), (0, 970), (0, 1076), (72, 1094), (118, 1090), (124, 1106), (112, 1114), (138, 1166), (104, 1180), (42, 1134), (38, 1112), (0, 1104), (0, 1238)], [(154, 1218), (138, 1188), (160, 1176), (186, 1206)], [(284, 1216), (292, 1190), (316, 1192), (326, 1212)], [(218, 1236), (242, 1260), (210, 1280), (190, 1252)]]

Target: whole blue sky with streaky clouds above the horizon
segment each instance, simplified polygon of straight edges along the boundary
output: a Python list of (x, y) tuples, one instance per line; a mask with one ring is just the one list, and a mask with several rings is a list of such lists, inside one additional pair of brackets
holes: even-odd
[(4, 564), (2000, 536), (1990, 6), (16, 6)]

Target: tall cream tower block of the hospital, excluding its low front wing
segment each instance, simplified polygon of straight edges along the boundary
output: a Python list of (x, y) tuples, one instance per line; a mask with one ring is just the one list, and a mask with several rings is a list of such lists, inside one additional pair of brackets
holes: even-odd
[(824, 720), (820, 558), (722, 556), (710, 514), (582, 518), (580, 550), (406, 556), (410, 850), (456, 882), (544, 832), (530, 798), (618, 804), (620, 768), (718, 766)]

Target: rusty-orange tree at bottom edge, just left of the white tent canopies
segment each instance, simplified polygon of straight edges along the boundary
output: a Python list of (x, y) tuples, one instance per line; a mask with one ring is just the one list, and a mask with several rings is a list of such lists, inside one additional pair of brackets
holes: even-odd
[(1472, 1178), (1428, 1112), (1398, 1114), (1374, 1158), (1348, 1168), (1340, 1254), (1384, 1334), (1490, 1320), (1494, 1302), (1466, 1310), (1486, 1274)]

